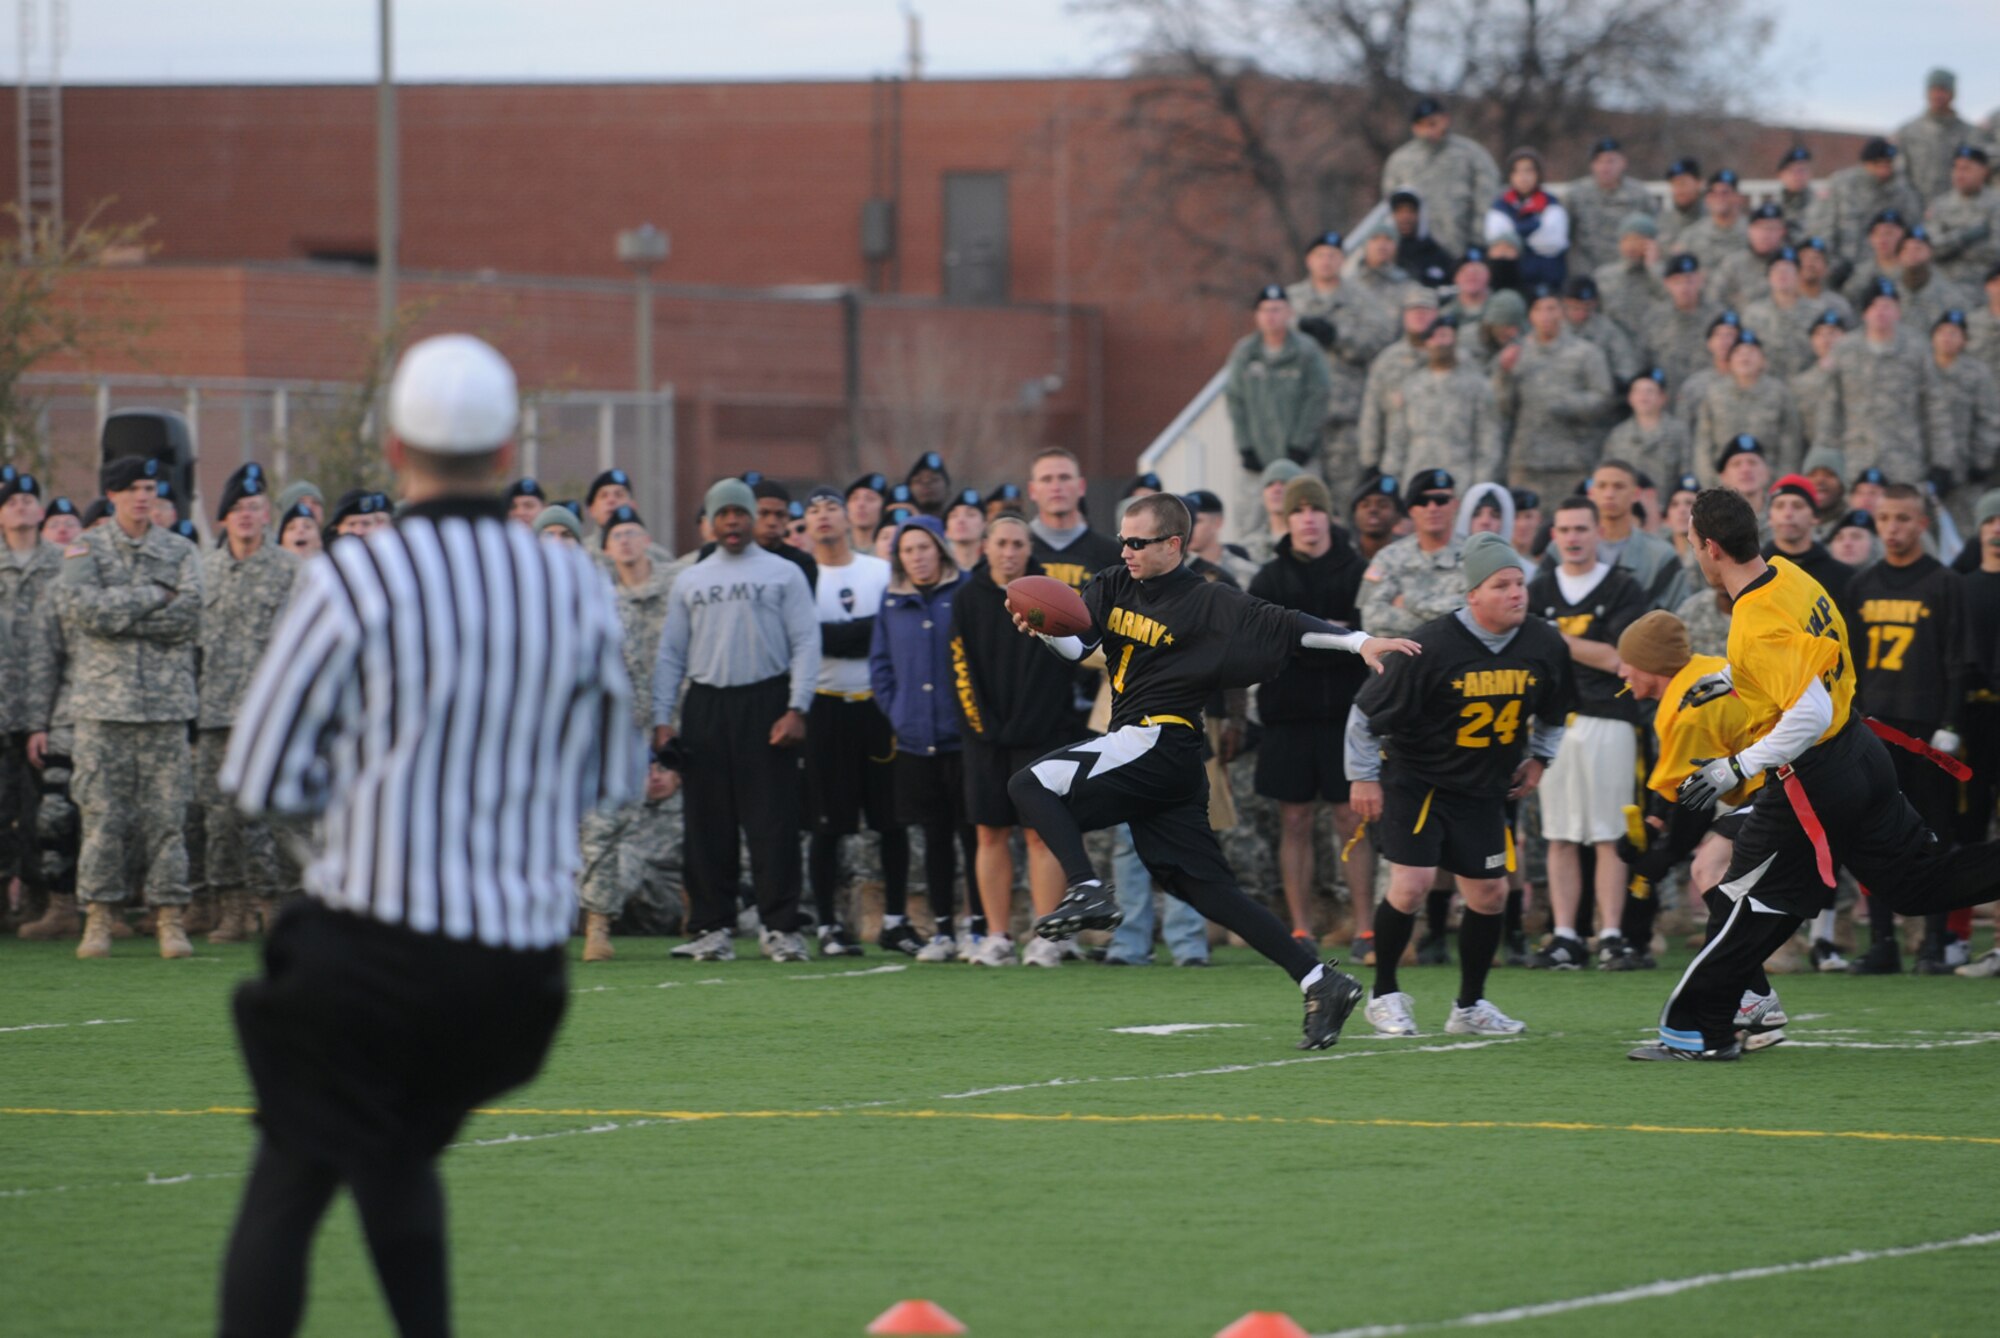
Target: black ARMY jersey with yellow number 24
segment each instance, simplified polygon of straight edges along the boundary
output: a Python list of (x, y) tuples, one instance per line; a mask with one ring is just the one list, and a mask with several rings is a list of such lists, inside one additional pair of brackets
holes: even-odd
[(1386, 774), (1454, 794), (1506, 796), (1528, 756), (1532, 722), (1562, 724), (1576, 710), (1570, 648), (1534, 614), (1498, 652), (1458, 614), (1432, 618), (1412, 640), (1424, 654), (1388, 656), (1354, 698), (1382, 740)]

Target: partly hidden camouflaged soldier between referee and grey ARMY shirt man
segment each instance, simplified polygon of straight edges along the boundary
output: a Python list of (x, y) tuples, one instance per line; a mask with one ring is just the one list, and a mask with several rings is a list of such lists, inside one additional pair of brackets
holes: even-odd
[[(606, 516), (604, 552), (612, 558), (612, 586), (618, 590), (618, 622), (624, 626), (626, 674), (646, 682), (660, 652), (668, 596), (682, 566), (654, 562), (646, 524), (630, 506)], [(632, 728), (650, 728), (652, 702), (634, 694)], [(856, 784), (860, 784), (856, 780)], [(612, 920), (634, 896), (680, 912), (680, 776), (652, 764), (646, 796), (612, 812), (584, 816), (580, 834), (584, 870), (576, 900), (584, 908), (584, 960), (612, 958)]]

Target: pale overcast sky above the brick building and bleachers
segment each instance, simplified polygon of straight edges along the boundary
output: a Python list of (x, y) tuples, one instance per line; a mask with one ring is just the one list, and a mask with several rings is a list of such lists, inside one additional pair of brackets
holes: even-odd
[[(36, 0), (48, 4), (48, 0)], [(68, 0), (70, 82), (368, 80), (376, 70), (372, 0)], [(1994, 0), (1772, 0), (1786, 84), (1778, 120), (1890, 128), (1922, 106), (1922, 78), (1956, 64), (1960, 110), (2000, 106)], [(1112, 72), (1116, 46), (1064, 0), (918, 0), (926, 72)], [(1920, 20), (1910, 16), (1920, 8)], [(690, 12), (696, 10), (696, 12)], [(404, 80), (718, 80), (866, 78), (900, 68), (896, 0), (402, 0), (396, 66)], [(8, 78), (14, 24), (0, 24)]]

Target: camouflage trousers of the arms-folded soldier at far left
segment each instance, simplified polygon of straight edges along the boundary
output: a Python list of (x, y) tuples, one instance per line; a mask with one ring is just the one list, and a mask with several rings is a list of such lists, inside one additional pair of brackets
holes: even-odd
[(182, 830), (194, 800), (194, 756), (186, 722), (76, 722), (76, 770), (70, 796), (84, 824), (76, 894), (86, 902), (122, 902), (126, 852), (144, 868), (150, 906), (188, 904), (188, 846)]

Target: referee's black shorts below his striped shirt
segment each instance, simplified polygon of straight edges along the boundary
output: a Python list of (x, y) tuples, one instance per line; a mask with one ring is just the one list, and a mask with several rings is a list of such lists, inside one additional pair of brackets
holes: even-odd
[(534, 1078), (570, 1002), (562, 948), (514, 952), (290, 902), (236, 988), (256, 1122), (340, 1168), (436, 1156)]

